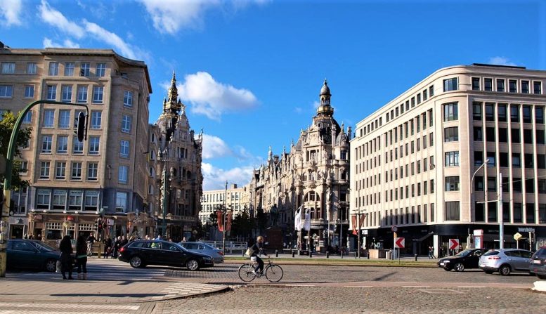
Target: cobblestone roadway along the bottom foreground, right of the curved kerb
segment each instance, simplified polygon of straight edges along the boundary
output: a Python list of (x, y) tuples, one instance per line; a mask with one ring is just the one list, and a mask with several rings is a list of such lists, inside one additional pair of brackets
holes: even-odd
[(509, 288), (240, 287), (158, 303), (153, 313), (545, 313), (546, 294)]

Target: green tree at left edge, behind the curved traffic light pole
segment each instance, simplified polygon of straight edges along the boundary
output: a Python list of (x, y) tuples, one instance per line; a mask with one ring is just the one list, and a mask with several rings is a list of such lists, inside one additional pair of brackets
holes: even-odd
[[(16, 115), (13, 115), (12, 112), (6, 112), (0, 119), (0, 155), (7, 157), (8, 156), (8, 145), (11, 138), (11, 132), (13, 131), (13, 126), (17, 121)], [(20, 157), (21, 152), (20, 147), (27, 145), (28, 140), (30, 140), (30, 132), (32, 129), (25, 128), (19, 131), (16, 145), (15, 145), (15, 157)], [(13, 161), (13, 167), (11, 171), (11, 187), (13, 190), (19, 190), (20, 188), (26, 188), (29, 183), (28, 181), (21, 180), (19, 175), (21, 171), (22, 163), (20, 160)], [(1, 183), (4, 183), (4, 175), (0, 176)]]

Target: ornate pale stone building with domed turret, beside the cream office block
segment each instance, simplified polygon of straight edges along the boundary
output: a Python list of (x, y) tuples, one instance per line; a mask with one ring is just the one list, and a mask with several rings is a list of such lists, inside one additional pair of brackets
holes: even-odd
[(346, 234), (349, 223), (351, 127), (345, 130), (334, 119), (331, 96), (325, 79), (311, 126), (301, 130), (295, 144), (292, 140), (290, 152), (283, 148), (274, 155), (270, 146), (267, 164), (254, 170), (249, 188), (251, 212), (263, 211), (268, 225), (282, 228), (286, 243), (294, 244), (298, 238), (294, 212), (301, 205), (309, 209), (311, 230), (304, 231), (301, 242), (323, 251), (329, 244), (339, 245), (339, 231), (345, 228)]

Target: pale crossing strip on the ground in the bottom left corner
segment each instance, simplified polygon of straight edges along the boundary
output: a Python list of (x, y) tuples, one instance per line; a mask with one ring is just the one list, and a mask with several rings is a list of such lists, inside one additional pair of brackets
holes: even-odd
[(137, 313), (140, 306), (126, 304), (78, 304), (78, 303), (17, 303), (0, 302), (0, 314), (23, 313), (85, 313), (85, 314), (114, 314)]

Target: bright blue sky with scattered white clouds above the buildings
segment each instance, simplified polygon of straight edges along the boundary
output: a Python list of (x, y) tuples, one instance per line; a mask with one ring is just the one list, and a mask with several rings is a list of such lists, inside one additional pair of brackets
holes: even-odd
[(0, 0), (13, 48), (112, 48), (143, 60), (150, 123), (172, 72), (204, 131), (204, 190), (239, 186), (312, 123), (324, 79), (354, 126), (442, 67), (546, 70), (541, 0)]

